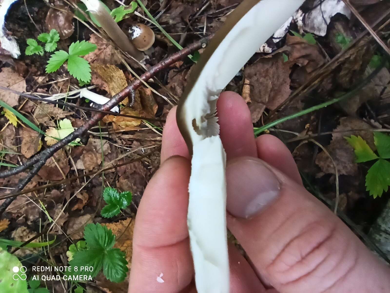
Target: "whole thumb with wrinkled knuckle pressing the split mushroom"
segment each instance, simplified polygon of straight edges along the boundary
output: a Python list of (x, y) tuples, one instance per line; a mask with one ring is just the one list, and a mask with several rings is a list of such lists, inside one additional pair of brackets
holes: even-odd
[(260, 159), (227, 163), (227, 209), (258, 275), (281, 293), (390, 288), (389, 268), (339, 218)]

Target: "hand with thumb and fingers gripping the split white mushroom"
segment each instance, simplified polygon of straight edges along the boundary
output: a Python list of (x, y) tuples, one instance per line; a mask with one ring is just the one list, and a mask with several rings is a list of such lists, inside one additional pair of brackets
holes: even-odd
[[(279, 139), (254, 138), (241, 96), (224, 92), (217, 108), (227, 154), (227, 226), (249, 258), (229, 246), (230, 292), (389, 292), (389, 267), (308, 193)], [(138, 208), (131, 293), (196, 292), (186, 222), (191, 163), (175, 117), (176, 108), (163, 130), (161, 167)]]

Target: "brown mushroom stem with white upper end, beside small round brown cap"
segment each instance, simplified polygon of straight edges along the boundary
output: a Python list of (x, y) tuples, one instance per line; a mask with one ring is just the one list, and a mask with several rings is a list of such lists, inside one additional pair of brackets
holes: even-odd
[(99, 21), (103, 30), (108, 34), (108, 36), (114, 41), (119, 48), (124, 52), (129, 53), (138, 61), (144, 59), (144, 54), (139, 51), (131, 43), (126, 34), (121, 30), (119, 25), (112, 18), (110, 13), (101, 5), (99, 0), (81, 0), (86, 6), (88, 11), (95, 16), (96, 20)]

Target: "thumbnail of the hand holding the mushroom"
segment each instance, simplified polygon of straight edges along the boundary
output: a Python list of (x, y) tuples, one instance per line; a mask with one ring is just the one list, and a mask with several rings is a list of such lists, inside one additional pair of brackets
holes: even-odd
[(227, 210), (233, 216), (250, 218), (273, 202), (280, 182), (260, 159), (234, 159), (226, 166)]

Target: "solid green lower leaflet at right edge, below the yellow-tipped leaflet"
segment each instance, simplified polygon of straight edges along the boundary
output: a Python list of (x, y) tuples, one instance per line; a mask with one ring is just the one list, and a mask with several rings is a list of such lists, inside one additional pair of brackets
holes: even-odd
[(390, 185), (390, 162), (379, 159), (378, 162), (372, 165), (366, 176), (367, 191), (374, 198), (381, 197), (383, 191), (387, 191)]

